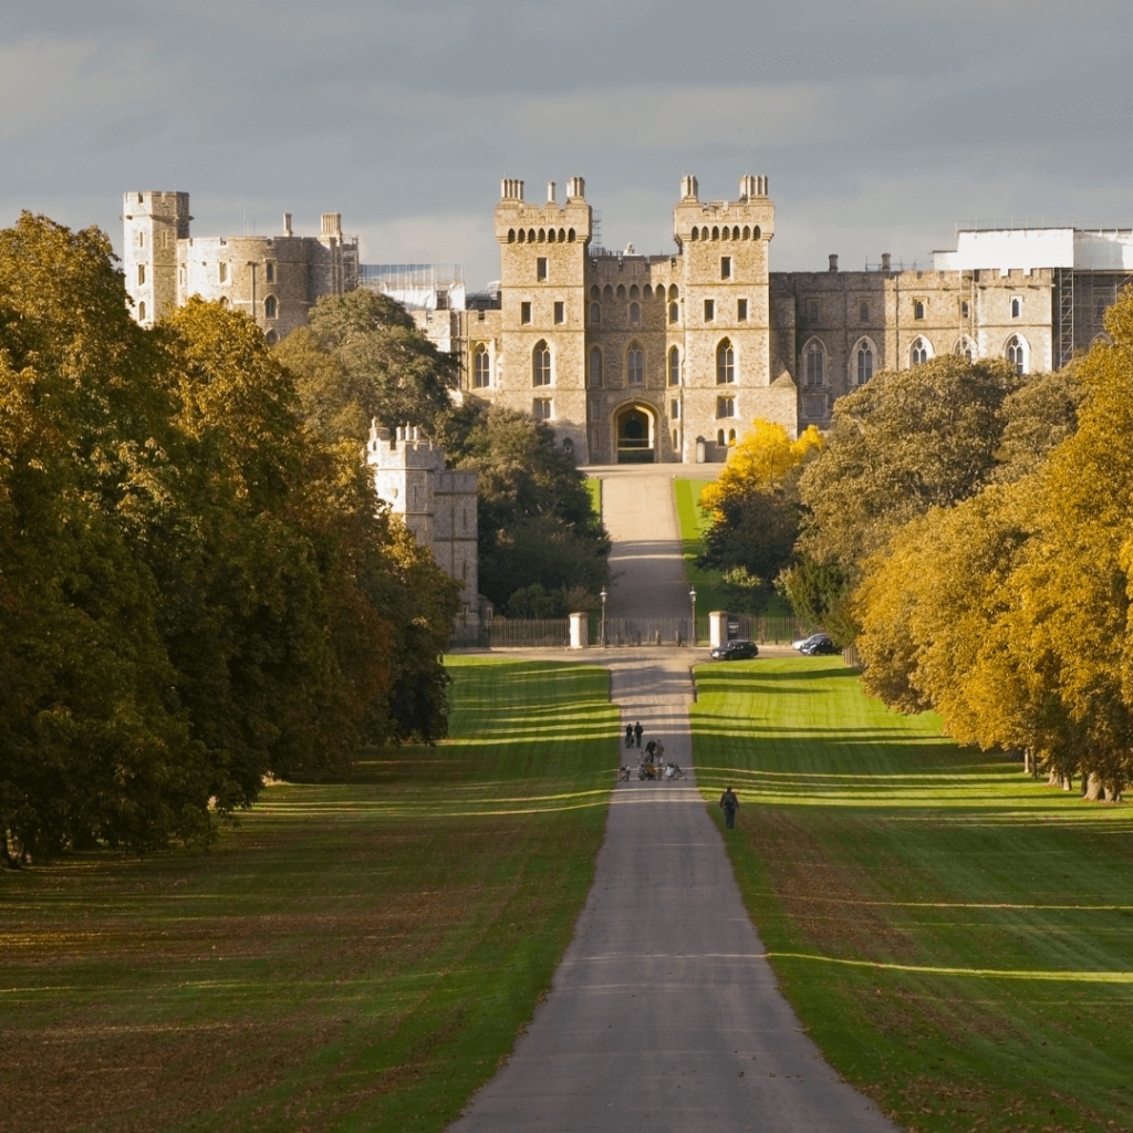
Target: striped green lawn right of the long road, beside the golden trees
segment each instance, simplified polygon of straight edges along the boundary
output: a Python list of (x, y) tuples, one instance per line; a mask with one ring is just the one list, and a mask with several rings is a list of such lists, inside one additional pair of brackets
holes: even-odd
[(698, 780), (738, 790), (744, 900), (833, 1065), (919, 1131), (1133, 1126), (1133, 808), (957, 748), (836, 658), (697, 681)]

